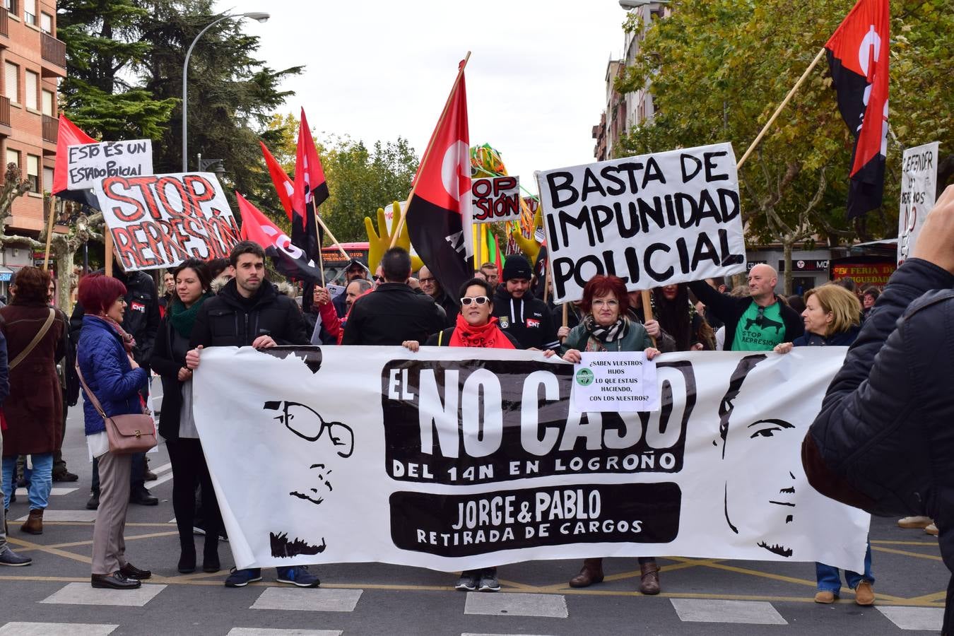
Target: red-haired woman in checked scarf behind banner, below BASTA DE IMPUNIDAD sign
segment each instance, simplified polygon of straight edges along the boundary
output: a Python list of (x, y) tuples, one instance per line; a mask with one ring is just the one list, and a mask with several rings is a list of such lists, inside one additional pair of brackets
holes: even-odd
[[(582, 322), (573, 327), (560, 351), (568, 362), (580, 361), (580, 352), (642, 351), (647, 359), (659, 355), (646, 328), (628, 316), (630, 299), (619, 277), (595, 276), (583, 288)], [(547, 351), (548, 358), (554, 352)], [(659, 593), (659, 567), (652, 557), (639, 558), (639, 591)], [(570, 587), (587, 587), (603, 581), (603, 559), (586, 559), (580, 573), (570, 579)]]

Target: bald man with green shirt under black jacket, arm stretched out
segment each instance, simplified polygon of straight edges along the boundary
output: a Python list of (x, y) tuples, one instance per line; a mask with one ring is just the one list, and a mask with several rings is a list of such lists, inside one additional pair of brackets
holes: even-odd
[(775, 294), (778, 273), (771, 265), (759, 263), (749, 271), (747, 298), (716, 292), (705, 280), (689, 283), (695, 297), (725, 323), (725, 351), (772, 351), (777, 344), (791, 342), (805, 333), (798, 312)]

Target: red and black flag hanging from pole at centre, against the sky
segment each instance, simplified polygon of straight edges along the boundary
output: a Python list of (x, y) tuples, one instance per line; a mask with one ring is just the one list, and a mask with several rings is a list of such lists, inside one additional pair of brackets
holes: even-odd
[(406, 213), (411, 244), (451, 295), (474, 274), (466, 61), (414, 175)]

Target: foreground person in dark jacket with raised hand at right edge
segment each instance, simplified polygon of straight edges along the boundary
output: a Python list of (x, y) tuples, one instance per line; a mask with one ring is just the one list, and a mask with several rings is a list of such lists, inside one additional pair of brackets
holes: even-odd
[[(828, 387), (801, 461), (823, 495), (925, 515), (954, 574), (954, 186), (888, 281)], [(942, 633), (954, 634), (954, 576)]]

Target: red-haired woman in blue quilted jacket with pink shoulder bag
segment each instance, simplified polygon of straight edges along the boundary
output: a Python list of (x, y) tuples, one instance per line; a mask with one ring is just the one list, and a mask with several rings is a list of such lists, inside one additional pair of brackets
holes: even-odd
[(139, 389), (149, 380), (133, 359), (135, 340), (120, 326), (126, 311), (126, 286), (114, 277), (93, 274), (79, 281), (79, 302), (86, 314), (79, 332), (76, 365), (85, 400), (83, 415), (90, 458), (99, 460), (99, 508), (93, 525), (93, 587), (135, 589), (152, 576), (126, 560), (123, 528), (129, 507), (133, 456), (114, 453), (106, 423), (90, 399), (92, 393), (106, 417), (142, 413)]

